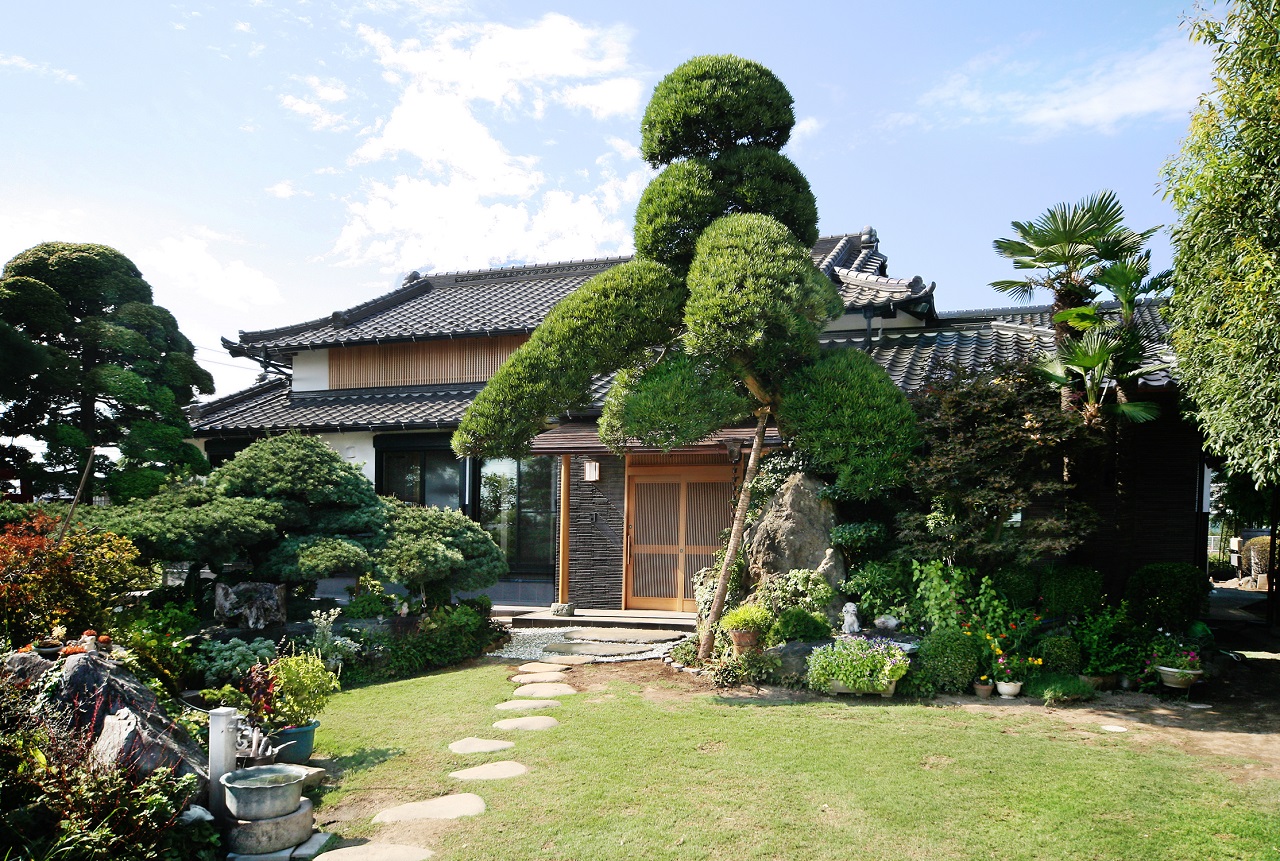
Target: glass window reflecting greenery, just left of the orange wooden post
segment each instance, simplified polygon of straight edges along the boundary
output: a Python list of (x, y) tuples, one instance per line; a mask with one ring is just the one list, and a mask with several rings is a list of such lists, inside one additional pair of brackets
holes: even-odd
[(513, 569), (549, 571), (556, 530), (556, 458), (485, 461), (476, 519)]

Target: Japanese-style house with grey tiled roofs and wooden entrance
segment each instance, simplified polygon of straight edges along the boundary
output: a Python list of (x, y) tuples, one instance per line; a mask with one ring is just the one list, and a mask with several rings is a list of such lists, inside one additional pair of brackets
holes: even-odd
[[(255, 439), (291, 429), (323, 438), (379, 494), (461, 509), (506, 551), (499, 603), (692, 610), (691, 577), (732, 516), (750, 429), (724, 429), (669, 453), (604, 446), (598, 415), (561, 416), (520, 459), (454, 457), (449, 436), (499, 365), (561, 298), (626, 258), (467, 273), (411, 273), (399, 289), (329, 317), (224, 340), (264, 366), (257, 385), (205, 403), (195, 436), (216, 466)], [(827, 237), (814, 264), (845, 301), (823, 344), (864, 349), (905, 390), (945, 365), (980, 365), (1052, 348), (1047, 307), (938, 313), (934, 285), (887, 274), (872, 228)], [(1152, 304), (1142, 325), (1162, 336)], [(1100, 559), (1135, 565), (1203, 558), (1207, 516), (1199, 438), (1178, 417), (1169, 374), (1143, 381), (1166, 404), (1126, 452), (1125, 517)], [(603, 400), (605, 383), (596, 390)], [(768, 445), (781, 440), (771, 430)]]

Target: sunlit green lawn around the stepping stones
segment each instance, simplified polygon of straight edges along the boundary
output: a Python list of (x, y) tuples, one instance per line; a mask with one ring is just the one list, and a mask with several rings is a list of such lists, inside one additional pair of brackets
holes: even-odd
[[(1071, 729), (1039, 709), (970, 714), (876, 699), (760, 702), (609, 682), (503, 733), (512, 686), (484, 664), (338, 695), (317, 745), (347, 766), (319, 820), (375, 837), (384, 806), (457, 791), (443, 858), (1280, 858), (1280, 780), (1236, 783), (1162, 739)], [(595, 678), (602, 670), (591, 669)], [(571, 674), (572, 679), (572, 674)], [(586, 681), (585, 674), (579, 681)], [(1101, 723), (1101, 722), (1092, 722)], [(511, 751), (457, 756), (466, 736)], [(515, 759), (530, 773), (448, 773)], [(384, 832), (385, 834), (385, 832)]]

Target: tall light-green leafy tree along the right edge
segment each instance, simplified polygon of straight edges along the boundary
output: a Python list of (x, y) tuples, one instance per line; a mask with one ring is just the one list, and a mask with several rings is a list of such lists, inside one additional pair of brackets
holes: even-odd
[(1169, 304), (1179, 376), (1208, 448), (1280, 486), (1280, 12), (1233, 3), (1192, 36), (1215, 55), (1180, 152), (1165, 166), (1174, 228)]

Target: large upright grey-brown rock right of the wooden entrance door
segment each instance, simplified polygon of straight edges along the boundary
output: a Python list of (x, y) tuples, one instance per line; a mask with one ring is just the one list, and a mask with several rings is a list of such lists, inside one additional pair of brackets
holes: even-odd
[(823, 487), (818, 478), (796, 472), (773, 494), (751, 527), (748, 542), (746, 564), (753, 582), (806, 568), (822, 573), (838, 590), (846, 574), (845, 560), (831, 546), (836, 507), (820, 496)]

